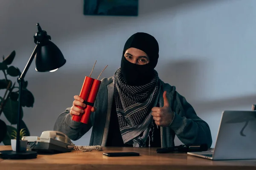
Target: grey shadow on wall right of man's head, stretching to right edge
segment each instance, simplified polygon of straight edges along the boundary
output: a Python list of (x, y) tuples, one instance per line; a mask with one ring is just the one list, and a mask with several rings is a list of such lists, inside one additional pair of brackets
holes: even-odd
[(250, 110), (251, 106), (256, 104), (256, 94), (214, 101), (200, 99), (207, 91), (207, 87), (204, 85), (204, 81), (207, 79), (206, 67), (207, 61), (179, 60), (167, 64), (159, 62), (156, 70), (160, 79), (174, 85), (177, 92), (188, 100), (199, 115), (220, 109), (230, 110), (245, 105), (248, 105)]

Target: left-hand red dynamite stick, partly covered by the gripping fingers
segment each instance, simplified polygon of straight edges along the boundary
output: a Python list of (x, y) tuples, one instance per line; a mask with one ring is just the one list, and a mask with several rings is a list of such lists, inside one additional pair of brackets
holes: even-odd
[[(87, 98), (90, 94), (90, 89), (93, 85), (93, 80), (94, 80), (93, 78), (87, 77), (87, 76), (84, 78), (84, 83), (83, 83), (83, 86), (81, 88), (81, 92), (80, 92), (80, 95), (79, 95), (82, 99), (84, 99), (84, 101), (87, 101)], [(81, 106), (76, 106), (76, 107), (78, 107), (80, 109), (84, 109)], [(73, 115), (72, 120), (74, 120), (76, 122), (80, 122), (81, 117), (82, 117), (82, 114)]]

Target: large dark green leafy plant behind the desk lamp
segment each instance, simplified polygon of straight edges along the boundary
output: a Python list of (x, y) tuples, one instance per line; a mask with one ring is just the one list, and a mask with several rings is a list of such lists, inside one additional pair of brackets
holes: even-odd
[[(8, 125), (8, 122), (0, 119), (0, 143), (3, 142), (5, 145), (11, 145), (11, 134), (14, 130), (17, 131), (15, 125), (17, 125), (19, 87), (16, 81), (21, 72), (19, 68), (11, 65), (15, 54), (15, 51), (12, 51), (8, 57), (3, 57), (3, 61), (0, 62), (0, 72), (3, 72), (3, 79), (0, 78), (0, 91), (4, 91), (3, 96), (0, 96), (0, 116), (3, 113), (9, 122)], [(22, 107), (33, 107), (34, 96), (27, 89), (27, 85), (28, 82), (25, 81), (20, 102)], [(22, 109), (21, 116), (23, 117)], [(20, 128), (25, 129), (25, 136), (30, 136), (23, 120), (20, 122)]]

